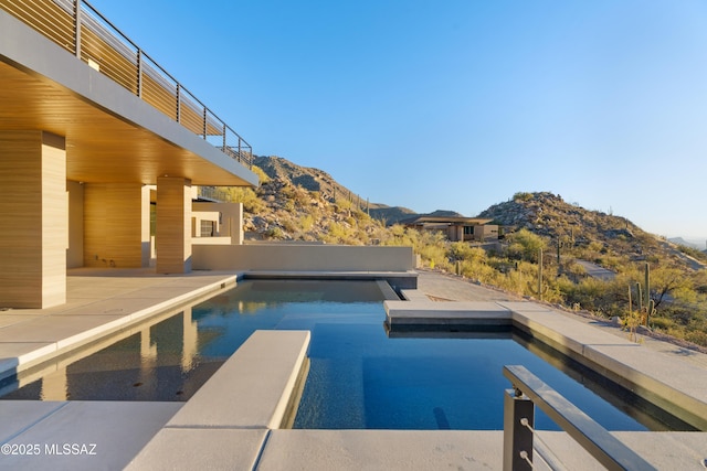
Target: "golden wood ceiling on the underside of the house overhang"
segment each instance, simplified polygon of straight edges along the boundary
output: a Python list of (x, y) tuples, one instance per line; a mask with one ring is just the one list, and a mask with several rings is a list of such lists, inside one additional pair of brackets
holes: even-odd
[(169, 175), (196, 185), (249, 185), (220, 165), (0, 61), (0, 130), (29, 129), (66, 137), (68, 180), (155, 184), (158, 176)]

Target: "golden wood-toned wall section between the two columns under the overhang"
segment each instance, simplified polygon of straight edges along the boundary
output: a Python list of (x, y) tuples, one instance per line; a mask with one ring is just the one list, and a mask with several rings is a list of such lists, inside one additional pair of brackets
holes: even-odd
[(84, 266), (147, 266), (149, 189), (139, 183), (85, 183), (83, 186)]

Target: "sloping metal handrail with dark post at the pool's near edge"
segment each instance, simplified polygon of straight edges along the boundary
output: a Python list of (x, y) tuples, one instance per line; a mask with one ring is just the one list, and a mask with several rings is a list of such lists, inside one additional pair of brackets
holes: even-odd
[[(558, 392), (552, 389), (540, 378), (530, 373), (525, 366), (521, 365), (506, 365), (504, 366), (504, 376), (506, 376), (511, 385), (513, 389), (507, 392), (507, 403), (514, 400), (529, 402), (530, 406), (536, 405), (542, 409), (557, 425), (567, 431), (579, 445), (582, 446), (592, 457), (594, 457), (602, 465), (609, 470), (654, 470), (655, 468), (645, 461), (635, 451), (626, 447), (623, 442), (609, 433), (601, 425), (594, 421), (591, 417), (580, 410), (572, 403), (562, 397)], [(513, 407), (513, 406), (510, 406)], [(507, 409), (504, 410), (506, 417)], [(529, 413), (528, 413), (529, 411)], [(525, 413), (532, 415), (531, 408), (525, 408)], [(513, 413), (508, 413), (511, 416)], [(513, 417), (509, 421), (508, 428), (516, 427), (517, 424), (524, 417)], [(530, 429), (530, 437), (532, 433), (532, 417), (525, 417), (526, 424), (529, 421), (530, 427), (521, 425)], [(515, 446), (508, 446), (513, 439), (507, 437), (506, 433), (510, 433), (510, 430), (506, 429), (504, 424), (504, 469), (511, 469), (513, 465), (508, 460), (513, 459), (517, 452)], [(515, 433), (514, 433), (515, 435)], [(527, 437), (526, 437), (527, 438)], [(507, 440), (508, 439), (508, 440)], [(530, 449), (532, 439), (530, 438)], [(527, 445), (527, 442), (526, 442)], [(508, 456), (508, 453), (511, 457)], [(529, 450), (526, 450), (528, 453)], [(531, 452), (530, 461), (531, 461)]]

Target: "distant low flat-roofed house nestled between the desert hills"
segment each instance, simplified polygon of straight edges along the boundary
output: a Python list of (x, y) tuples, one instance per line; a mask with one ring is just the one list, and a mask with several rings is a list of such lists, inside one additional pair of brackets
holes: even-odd
[(498, 240), (498, 226), (488, 224), (493, 220), (456, 216), (415, 216), (400, 224), (419, 231), (440, 231), (452, 242), (494, 242)]

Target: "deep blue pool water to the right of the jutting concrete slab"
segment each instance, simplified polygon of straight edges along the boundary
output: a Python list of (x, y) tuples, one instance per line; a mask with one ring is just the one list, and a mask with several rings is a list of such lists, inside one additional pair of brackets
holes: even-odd
[[(499, 430), (503, 392), (510, 387), (502, 370), (521, 364), (605, 428), (647, 429), (510, 333), (389, 339), (378, 314), (337, 321), (314, 325), (309, 376), (294, 428)], [(540, 410), (536, 427), (559, 430)]]

